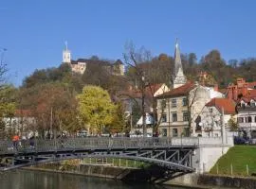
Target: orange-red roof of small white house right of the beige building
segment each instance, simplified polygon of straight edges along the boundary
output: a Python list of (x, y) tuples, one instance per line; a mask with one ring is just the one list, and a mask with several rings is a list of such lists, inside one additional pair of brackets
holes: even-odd
[(206, 106), (216, 107), (219, 112), (221, 112), (223, 108), (225, 114), (235, 113), (235, 102), (229, 98), (212, 98)]

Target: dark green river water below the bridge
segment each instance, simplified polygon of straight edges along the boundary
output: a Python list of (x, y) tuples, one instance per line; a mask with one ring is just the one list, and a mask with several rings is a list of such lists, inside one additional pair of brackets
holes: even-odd
[(70, 174), (15, 170), (0, 173), (0, 189), (183, 189), (149, 183), (124, 183), (117, 180)]

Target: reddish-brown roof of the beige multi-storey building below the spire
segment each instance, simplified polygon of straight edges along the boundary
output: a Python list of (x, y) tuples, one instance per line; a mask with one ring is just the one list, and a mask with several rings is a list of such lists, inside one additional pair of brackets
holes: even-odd
[(157, 97), (162, 97), (162, 96), (176, 96), (176, 95), (184, 95), (188, 94), (192, 89), (195, 87), (195, 85), (192, 83), (192, 81), (188, 81), (186, 84), (177, 87), (169, 92), (166, 92), (164, 94), (159, 94)]

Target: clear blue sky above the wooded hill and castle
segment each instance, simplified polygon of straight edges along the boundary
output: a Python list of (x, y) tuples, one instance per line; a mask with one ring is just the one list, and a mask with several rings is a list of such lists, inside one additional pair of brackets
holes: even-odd
[(254, 0), (1, 0), (0, 47), (9, 81), (20, 85), (35, 69), (58, 66), (64, 41), (72, 59), (122, 58), (133, 41), (153, 55), (198, 59), (219, 49), (225, 60), (256, 57)]

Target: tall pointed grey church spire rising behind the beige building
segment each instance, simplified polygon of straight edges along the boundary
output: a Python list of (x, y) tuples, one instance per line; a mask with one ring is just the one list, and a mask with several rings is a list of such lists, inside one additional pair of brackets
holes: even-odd
[(187, 82), (187, 78), (183, 74), (180, 51), (176, 40), (174, 51), (174, 73), (173, 73), (173, 89), (180, 87)]

